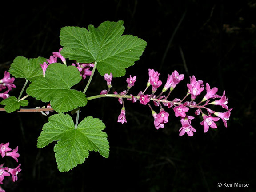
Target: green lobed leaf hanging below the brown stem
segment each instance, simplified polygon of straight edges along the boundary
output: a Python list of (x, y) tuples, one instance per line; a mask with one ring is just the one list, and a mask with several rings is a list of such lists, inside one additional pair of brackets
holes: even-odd
[(68, 114), (52, 115), (37, 140), (37, 147), (42, 148), (53, 141), (56, 162), (60, 172), (82, 164), (88, 157), (89, 151), (100, 152), (104, 157), (109, 155), (107, 134), (102, 132), (105, 125), (101, 120), (92, 116), (84, 118), (75, 128), (74, 122)]

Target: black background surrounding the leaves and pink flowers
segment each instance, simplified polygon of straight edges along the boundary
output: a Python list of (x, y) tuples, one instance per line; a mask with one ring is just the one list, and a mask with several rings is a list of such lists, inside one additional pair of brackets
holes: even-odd
[[(148, 106), (125, 100), (127, 124), (117, 123), (121, 105), (112, 98), (92, 100), (82, 108), (80, 120), (94, 116), (106, 125), (110, 143), (108, 159), (90, 152), (84, 164), (70, 172), (57, 170), (55, 143), (38, 149), (37, 137), (47, 118), (40, 113), (0, 112), (0, 143), (19, 146), (22, 171), (18, 181), (5, 178), (11, 192), (225, 192), (256, 190), (255, 65), (256, 1), (139, 1), (102, 0), (68, 3), (24, 4), (8, 1), (0, 8), (0, 78), (16, 56), (49, 58), (60, 47), (64, 26), (86, 27), (110, 20), (124, 20), (124, 34), (147, 41), (140, 60), (126, 76), (112, 81), (112, 92), (126, 89), (126, 78), (137, 75), (129, 93), (144, 90), (148, 68), (160, 72), (165, 83), (168, 73), (185, 74), (170, 98), (182, 98), (189, 76), (226, 91), (233, 108), (228, 128), (203, 132), (196, 116), (193, 137), (179, 136), (180, 120), (172, 109), (169, 123), (156, 130)], [(183, 55), (183, 56), (182, 56)], [(184, 59), (184, 60), (183, 60)], [(186, 70), (187, 68), (187, 70)], [(24, 80), (16, 79), (18, 96)], [(85, 84), (80, 84), (81, 89)], [(106, 85), (96, 72), (87, 95), (99, 94)], [(31, 105), (42, 106), (30, 98)], [(159, 108), (154, 108), (158, 112)], [(222, 108), (218, 108), (224, 112)], [(15, 160), (0, 163), (16, 167)], [(217, 183), (248, 183), (248, 188), (217, 187)]]

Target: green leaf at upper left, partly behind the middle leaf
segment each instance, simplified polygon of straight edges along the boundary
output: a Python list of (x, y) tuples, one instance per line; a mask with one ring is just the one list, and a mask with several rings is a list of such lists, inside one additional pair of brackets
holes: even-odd
[(10, 66), (9, 72), (16, 78), (25, 78), (33, 81), (36, 77), (43, 76), (43, 70), (40, 64), (46, 61), (43, 57), (27, 59), (23, 56), (17, 56)]

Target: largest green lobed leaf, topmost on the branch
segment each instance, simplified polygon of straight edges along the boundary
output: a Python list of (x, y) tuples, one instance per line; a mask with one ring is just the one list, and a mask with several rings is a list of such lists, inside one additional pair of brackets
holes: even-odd
[(114, 77), (125, 75), (128, 68), (139, 60), (147, 43), (132, 35), (122, 35), (123, 21), (106, 21), (98, 28), (64, 27), (60, 30), (61, 54), (80, 63), (97, 62), (99, 73), (112, 72)]

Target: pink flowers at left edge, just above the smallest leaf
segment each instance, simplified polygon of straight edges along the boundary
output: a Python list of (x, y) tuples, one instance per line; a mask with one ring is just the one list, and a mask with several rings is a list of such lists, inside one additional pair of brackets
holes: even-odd
[(3, 93), (0, 93), (0, 97), (3, 99), (8, 98), (10, 95), (8, 94), (9, 91), (12, 90), (12, 88), (16, 88), (14, 84), (14, 77), (10, 77), (9, 72), (4, 72), (4, 78), (0, 80), (0, 91), (5, 90)]

